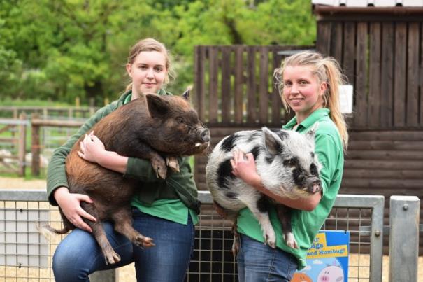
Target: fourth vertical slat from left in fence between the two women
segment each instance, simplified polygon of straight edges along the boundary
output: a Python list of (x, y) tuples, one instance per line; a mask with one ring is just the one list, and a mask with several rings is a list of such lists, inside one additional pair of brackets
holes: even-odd
[(234, 122), (243, 122), (243, 45), (235, 46), (234, 69)]

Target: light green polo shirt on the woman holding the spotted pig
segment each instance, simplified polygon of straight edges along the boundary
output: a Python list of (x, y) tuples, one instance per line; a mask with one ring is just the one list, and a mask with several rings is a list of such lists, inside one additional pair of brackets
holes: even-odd
[[(343, 174), (343, 145), (336, 125), (329, 118), (329, 109), (317, 109), (301, 122), (296, 131), (305, 133), (315, 122), (319, 122), (315, 135), (315, 153), (322, 164), (320, 170), (322, 199), (313, 211), (297, 209), (292, 211), (292, 232), (299, 249), (290, 248), (285, 244), (282, 238), (282, 227), (274, 207), (270, 211), (271, 223), (276, 233), (276, 246), (283, 251), (292, 253), (298, 259), (299, 269), (306, 267), (307, 250), (334, 205)], [(294, 125), (296, 125), (296, 118), (290, 120), (283, 128), (292, 129)], [(259, 222), (247, 208), (241, 210), (238, 216), (238, 232), (264, 242)]]

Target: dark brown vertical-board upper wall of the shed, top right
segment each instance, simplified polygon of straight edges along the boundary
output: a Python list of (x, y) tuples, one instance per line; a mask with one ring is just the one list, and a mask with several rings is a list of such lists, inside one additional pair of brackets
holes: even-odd
[(335, 57), (354, 85), (350, 127), (422, 129), (422, 22), (423, 14), (320, 15), (316, 48)]

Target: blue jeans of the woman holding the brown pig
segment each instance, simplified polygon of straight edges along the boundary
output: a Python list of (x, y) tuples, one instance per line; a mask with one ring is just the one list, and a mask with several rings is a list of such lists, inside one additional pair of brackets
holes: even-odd
[(103, 253), (92, 234), (73, 230), (57, 246), (52, 269), (61, 281), (89, 281), (88, 275), (97, 270), (113, 269), (135, 262), (137, 281), (183, 281), (194, 249), (194, 225), (181, 225), (163, 218), (150, 216), (133, 209), (133, 226), (138, 232), (154, 240), (156, 246), (139, 248), (113, 230), (111, 223), (103, 223), (110, 244), (122, 259), (106, 265)]

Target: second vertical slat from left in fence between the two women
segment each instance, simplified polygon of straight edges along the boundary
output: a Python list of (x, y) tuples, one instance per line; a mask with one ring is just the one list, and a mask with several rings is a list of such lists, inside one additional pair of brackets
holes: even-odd
[(217, 49), (213, 46), (208, 48), (208, 62), (209, 62), (209, 112), (208, 121), (217, 122)]

